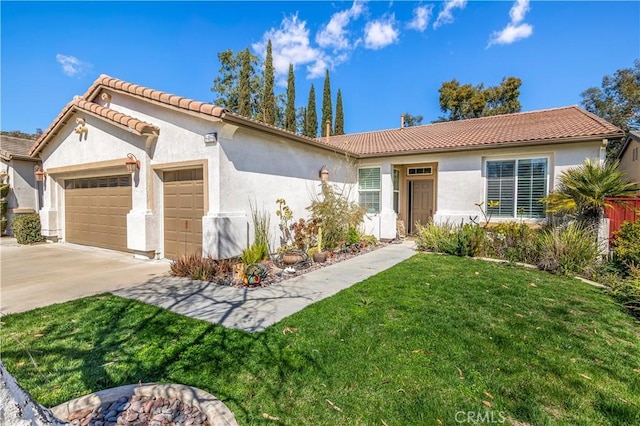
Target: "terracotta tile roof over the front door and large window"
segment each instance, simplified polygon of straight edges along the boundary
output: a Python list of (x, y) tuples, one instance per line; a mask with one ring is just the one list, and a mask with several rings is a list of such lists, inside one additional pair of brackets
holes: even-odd
[(366, 157), (622, 136), (613, 124), (574, 105), (317, 140)]

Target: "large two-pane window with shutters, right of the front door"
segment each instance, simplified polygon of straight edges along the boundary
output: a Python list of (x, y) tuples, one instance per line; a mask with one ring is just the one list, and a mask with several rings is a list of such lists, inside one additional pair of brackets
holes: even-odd
[(487, 161), (487, 207), (496, 217), (545, 217), (547, 159)]

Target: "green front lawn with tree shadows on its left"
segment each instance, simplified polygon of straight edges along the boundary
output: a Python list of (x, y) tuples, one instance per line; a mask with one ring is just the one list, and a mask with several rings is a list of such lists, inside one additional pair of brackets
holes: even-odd
[(255, 334), (110, 295), (2, 321), (3, 361), (48, 406), (158, 381), (240, 424), (640, 424), (637, 320), (577, 280), (472, 259), (416, 255)]

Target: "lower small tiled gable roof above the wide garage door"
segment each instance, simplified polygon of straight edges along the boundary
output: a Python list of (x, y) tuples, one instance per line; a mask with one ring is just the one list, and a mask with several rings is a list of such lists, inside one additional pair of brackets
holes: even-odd
[(69, 102), (62, 109), (62, 111), (60, 111), (60, 114), (58, 114), (58, 116), (51, 122), (47, 130), (45, 130), (44, 133), (42, 133), (42, 135), (38, 138), (38, 140), (33, 143), (30, 150), (30, 155), (38, 153), (44, 147), (44, 145), (46, 145), (49, 136), (57, 134), (55, 130), (58, 125), (60, 123), (66, 123), (64, 121), (65, 117), (76, 110), (88, 112), (90, 114), (102, 117), (107, 121), (111, 121), (117, 125), (126, 127), (130, 131), (132, 130), (138, 134), (158, 133), (160, 131), (160, 129), (153, 124), (146, 123), (142, 120), (138, 120), (137, 118), (122, 114), (121, 112), (103, 107), (96, 103), (86, 101), (82, 98), (75, 98), (71, 102)]

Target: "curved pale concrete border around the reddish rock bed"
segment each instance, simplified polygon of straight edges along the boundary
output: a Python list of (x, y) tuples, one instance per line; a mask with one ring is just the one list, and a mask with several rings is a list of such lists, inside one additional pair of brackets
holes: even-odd
[(197, 407), (207, 415), (211, 426), (237, 426), (235, 416), (227, 406), (215, 396), (191, 386), (168, 383), (144, 383), (142, 385), (126, 385), (105, 389), (53, 407), (53, 414), (65, 420), (71, 413), (87, 408), (97, 409), (102, 404), (117, 401), (120, 397), (130, 398), (134, 395), (146, 397), (176, 398), (185, 404)]

